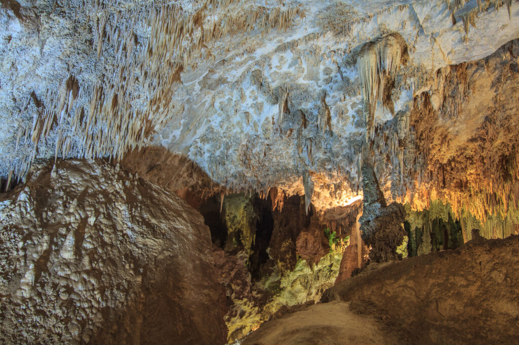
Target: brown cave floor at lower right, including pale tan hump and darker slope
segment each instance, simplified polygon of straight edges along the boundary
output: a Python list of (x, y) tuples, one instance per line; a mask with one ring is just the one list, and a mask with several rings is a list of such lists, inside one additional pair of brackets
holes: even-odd
[(517, 267), (519, 236), (371, 264), (242, 344), (519, 344)]

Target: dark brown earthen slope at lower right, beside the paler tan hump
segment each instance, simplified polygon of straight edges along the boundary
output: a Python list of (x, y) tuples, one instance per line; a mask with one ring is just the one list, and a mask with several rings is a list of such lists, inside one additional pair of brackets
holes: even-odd
[[(476, 231), (477, 234), (477, 231)], [(407, 343), (517, 343), (519, 236), (372, 264), (326, 291), (385, 320)]]

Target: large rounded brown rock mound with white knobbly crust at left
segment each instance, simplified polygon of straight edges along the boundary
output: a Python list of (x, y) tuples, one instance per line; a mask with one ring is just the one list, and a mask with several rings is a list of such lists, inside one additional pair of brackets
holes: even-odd
[(225, 342), (209, 229), (178, 196), (58, 161), (0, 220), (0, 342)]

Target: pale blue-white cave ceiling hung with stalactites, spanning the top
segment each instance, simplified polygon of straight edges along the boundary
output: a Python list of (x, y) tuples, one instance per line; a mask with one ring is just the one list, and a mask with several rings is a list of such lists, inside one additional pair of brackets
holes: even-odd
[[(383, 162), (386, 198), (413, 202), (425, 178), (404, 168), (420, 150), (405, 141), (418, 100), (427, 94), (440, 113), (445, 68), (519, 37), (517, 19), (517, 2), (496, 0), (3, 0), (0, 175), (152, 147), (192, 162), (218, 190), (279, 187), (323, 210), (362, 198), (370, 161)], [(461, 137), (444, 161), (479, 135), (481, 107), (435, 120)], [(148, 163), (145, 172), (158, 166)]]

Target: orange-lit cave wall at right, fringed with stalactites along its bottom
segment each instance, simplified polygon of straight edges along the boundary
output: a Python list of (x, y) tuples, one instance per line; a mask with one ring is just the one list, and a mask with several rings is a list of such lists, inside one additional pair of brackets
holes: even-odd
[(370, 143), (385, 197), (413, 210), (441, 200), (465, 241), (472, 228), (487, 238), (517, 231), (518, 47), (513, 40), (485, 59), (439, 69), (430, 91), (378, 126)]

